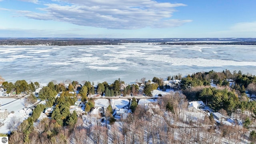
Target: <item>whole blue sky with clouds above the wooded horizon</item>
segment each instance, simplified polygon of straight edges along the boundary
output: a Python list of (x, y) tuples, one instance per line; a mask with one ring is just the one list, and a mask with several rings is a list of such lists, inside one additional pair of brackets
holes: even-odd
[(0, 0), (0, 37), (256, 38), (256, 0)]

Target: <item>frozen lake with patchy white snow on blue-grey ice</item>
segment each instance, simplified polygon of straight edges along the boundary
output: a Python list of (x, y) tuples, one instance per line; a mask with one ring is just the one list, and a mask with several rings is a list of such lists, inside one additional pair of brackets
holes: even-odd
[(130, 43), (91, 46), (0, 46), (0, 75), (8, 82), (67, 79), (134, 82), (200, 71), (256, 74), (256, 46), (172, 46)]

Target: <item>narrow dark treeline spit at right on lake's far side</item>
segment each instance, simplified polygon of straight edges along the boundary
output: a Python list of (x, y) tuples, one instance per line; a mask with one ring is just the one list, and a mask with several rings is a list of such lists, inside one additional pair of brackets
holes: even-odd
[(256, 45), (256, 42), (162, 42), (169, 45)]

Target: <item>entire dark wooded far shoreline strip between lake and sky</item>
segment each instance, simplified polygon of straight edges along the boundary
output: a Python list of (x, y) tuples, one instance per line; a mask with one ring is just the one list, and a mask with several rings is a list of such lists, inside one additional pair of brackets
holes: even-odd
[(0, 46), (82, 46), (148, 43), (168, 45), (256, 45), (256, 38), (0, 38)]

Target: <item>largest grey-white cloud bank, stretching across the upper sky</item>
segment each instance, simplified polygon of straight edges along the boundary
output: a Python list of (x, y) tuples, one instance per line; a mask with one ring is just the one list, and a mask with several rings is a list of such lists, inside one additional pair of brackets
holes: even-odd
[(38, 8), (42, 13), (18, 13), (37, 20), (54, 20), (109, 29), (168, 28), (191, 22), (171, 19), (176, 11), (174, 8), (186, 6), (178, 3), (160, 3), (153, 0), (62, 0), (57, 3), (44, 4), (45, 8)]

